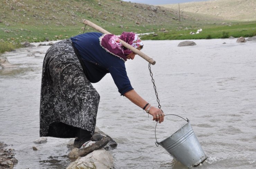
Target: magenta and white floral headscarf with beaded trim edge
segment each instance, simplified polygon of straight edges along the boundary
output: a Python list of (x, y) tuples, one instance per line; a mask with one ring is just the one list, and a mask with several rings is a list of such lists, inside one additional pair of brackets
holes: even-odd
[(107, 52), (127, 61), (126, 56), (132, 51), (122, 46), (119, 38), (135, 48), (143, 47), (139, 36), (132, 32), (123, 32), (119, 37), (113, 34), (104, 34), (100, 37), (100, 45)]

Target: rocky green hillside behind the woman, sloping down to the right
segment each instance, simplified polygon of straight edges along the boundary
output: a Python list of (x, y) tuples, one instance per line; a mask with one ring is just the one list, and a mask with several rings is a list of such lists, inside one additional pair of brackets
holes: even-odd
[[(6, 0), (0, 6), (0, 36), (4, 41), (16, 42), (64, 39), (82, 33), (83, 19), (114, 34), (182, 27), (177, 10), (159, 6), (119, 0)], [(184, 15), (182, 23), (196, 19), (202, 20), (200, 16)], [(210, 22), (211, 18), (203, 21)]]

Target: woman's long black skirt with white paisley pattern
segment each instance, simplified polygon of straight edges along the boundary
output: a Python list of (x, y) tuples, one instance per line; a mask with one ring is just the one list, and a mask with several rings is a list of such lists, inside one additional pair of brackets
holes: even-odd
[(83, 73), (72, 41), (52, 45), (43, 62), (40, 137), (75, 137), (77, 129), (93, 135), (100, 95)]

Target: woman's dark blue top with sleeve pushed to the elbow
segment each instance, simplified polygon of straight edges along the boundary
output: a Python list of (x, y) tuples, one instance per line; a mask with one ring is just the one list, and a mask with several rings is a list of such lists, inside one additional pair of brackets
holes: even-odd
[[(107, 52), (100, 45), (102, 33), (89, 32), (71, 38), (75, 50), (81, 56), (83, 70), (91, 83), (99, 82), (110, 73), (121, 95), (132, 90), (126, 73), (125, 62)], [(79, 57), (79, 56), (78, 56)]]

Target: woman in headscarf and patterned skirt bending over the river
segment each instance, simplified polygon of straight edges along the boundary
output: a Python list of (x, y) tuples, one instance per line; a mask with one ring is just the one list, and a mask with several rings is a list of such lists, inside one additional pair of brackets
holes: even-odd
[(119, 39), (138, 50), (143, 43), (138, 35), (123, 32), (120, 37), (97, 32), (84, 33), (55, 43), (43, 62), (40, 99), (40, 137), (76, 138), (80, 148), (92, 140), (100, 95), (91, 83), (110, 73), (121, 95), (146, 110), (153, 120), (164, 121), (161, 109), (148, 104), (132, 88), (125, 61), (135, 53)]

